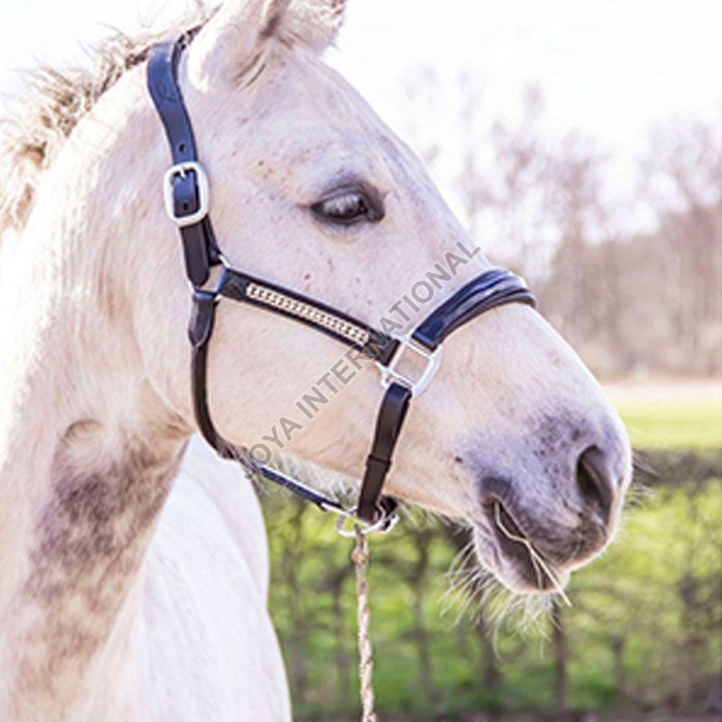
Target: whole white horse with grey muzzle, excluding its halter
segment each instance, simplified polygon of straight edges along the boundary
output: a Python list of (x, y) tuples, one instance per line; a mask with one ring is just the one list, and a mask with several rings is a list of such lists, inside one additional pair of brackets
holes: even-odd
[[(373, 324), (470, 243), (421, 162), (319, 60), (342, 13), (343, 0), (227, 0), (190, 45), (181, 85), (231, 261)], [(291, 717), (255, 495), (195, 442), (176, 477), (194, 431), (190, 301), (144, 58), (128, 47), (82, 87), (51, 79), (5, 138), (4, 722)], [(438, 301), (485, 267), (481, 255), (459, 264)], [(409, 325), (420, 318), (406, 312)], [(337, 361), (321, 334), (221, 304), (218, 428), (261, 440)], [(365, 367), (285, 450), (356, 474), (378, 398)], [(604, 393), (516, 305), (449, 340), (388, 492), (466, 520), (480, 563), (530, 592), (545, 582), (503, 530), (564, 583), (615, 532), (629, 477)]]

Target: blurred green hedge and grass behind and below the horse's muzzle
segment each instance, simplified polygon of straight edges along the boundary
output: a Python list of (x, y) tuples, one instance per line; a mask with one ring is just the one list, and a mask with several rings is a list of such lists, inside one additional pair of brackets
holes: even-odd
[[(615, 719), (633, 710), (629, 718), (638, 719), (639, 710), (674, 716), (709, 707), (722, 653), (720, 410), (636, 403), (622, 412), (660, 476), (646, 480), (650, 493), (636, 495), (605, 555), (575, 574), (573, 606), (558, 610), (557, 634), (549, 619), (525, 633), (513, 619), (498, 628), (474, 613), (457, 619), (459, 605), (444, 597), (464, 532), (413, 516), (373, 539), (375, 686), (384, 718), (562, 706)], [(271, 608), (296, 718), (353, 719), (352, 544), (328, 516), (286, 495), (264, 504)]]

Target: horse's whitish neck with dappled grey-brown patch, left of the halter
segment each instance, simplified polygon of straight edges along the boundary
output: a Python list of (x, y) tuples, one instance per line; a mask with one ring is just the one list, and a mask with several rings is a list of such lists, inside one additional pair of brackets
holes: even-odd
[(80, 719), (84, 690), (118, 686), (104, 680), (127, 653), (143, 552), (190, 434), (145, 380), (118, 281), (140, 229), (103, 223), (117, 138), (83, 125), (96, 158), (69, 175), (79, 151), (60, 153), (3, 255), (3, 719)]

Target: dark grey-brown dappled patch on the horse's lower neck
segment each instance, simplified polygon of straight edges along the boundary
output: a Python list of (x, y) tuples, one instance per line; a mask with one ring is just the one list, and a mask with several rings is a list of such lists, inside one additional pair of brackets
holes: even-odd
[(81, 468), (68, 449), (61, 442), (53, 461), (19, 600), (32, 620), (16, 642), (25, 693), (51, 691), (105, 642), (180, 460), (129, 442), (120, 460)]

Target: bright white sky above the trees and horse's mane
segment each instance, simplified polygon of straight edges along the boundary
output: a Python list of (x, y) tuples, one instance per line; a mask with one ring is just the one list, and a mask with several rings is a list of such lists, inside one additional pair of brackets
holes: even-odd
[[(16, 69), (82, 61), (81, 43), (109, 26), (133, 32), (185, 7), (184, 0), (0, 0), (0, 93), (17, 90)], [(471, 71), (490, 116), (500, 118), (518, 116), (520, 89), (538, 83), (551, 133), (591, 136), (615, 156), (624, 185), (650, 126), (720, 116), (720, 29), (720, 0), (348, 0), (328, 58), (399, 131), (408, 120), (401, 79), (414, 68), (449, 79), (451, 94), (450, 79)]]

